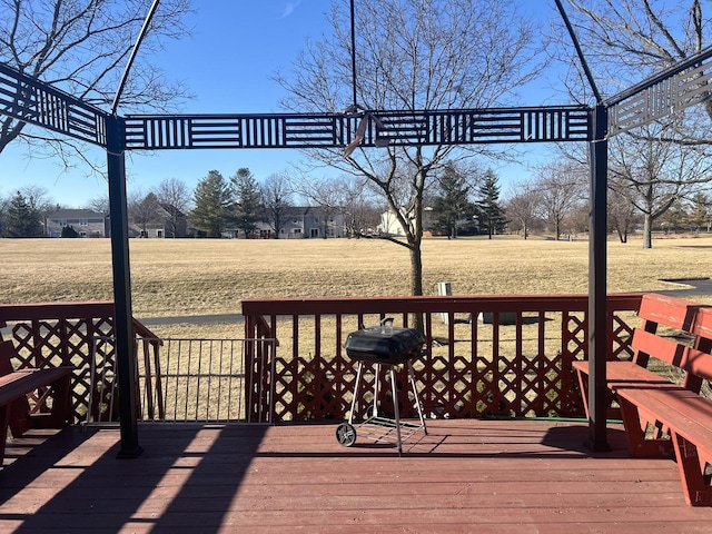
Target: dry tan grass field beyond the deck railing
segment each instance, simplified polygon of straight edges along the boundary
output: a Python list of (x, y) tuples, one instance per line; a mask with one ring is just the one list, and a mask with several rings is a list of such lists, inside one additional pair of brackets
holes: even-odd
[[(587, 291), (584, 240), (425, 239), (423, 250), (429, 294), (443, 280), (456, 294)], [(650, 250), (612, 240), (609, 290), (710, 276), (711, 253), (712, 236), (656, 239)], [(376, 239), (135, 239), (130, 260), (137, 317), (239, 313), (246, 298), (409, 294), (408, 251)], [(0, 265), (2, 303), (112, 298), (108, 239), (0, 239)]]

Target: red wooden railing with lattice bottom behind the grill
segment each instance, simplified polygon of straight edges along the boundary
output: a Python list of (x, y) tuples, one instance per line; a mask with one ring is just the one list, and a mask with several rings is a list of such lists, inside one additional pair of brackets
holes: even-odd
[[(631, 357), (641, 296), (607, 298), (611, 358)], [(385, 317), (423, 327), (426, 348), (413, 363), (428, 416), (583, 416), (571, 364), (587, 358), (585, 295), (245, 300), (243, 314), (246, 338), (279, 340), (278, 354), (248, 352), (250, 421), (346, 417), (356, 364), (344, 342)], [(365, 379), (373, 386), (373, 373)], [(372, 390), (360, 388), (359, 414)], [(389, 387), (379, 390), (386, 395)], [(414, 417), (407, 388), (398, 396), (400, 414)]]

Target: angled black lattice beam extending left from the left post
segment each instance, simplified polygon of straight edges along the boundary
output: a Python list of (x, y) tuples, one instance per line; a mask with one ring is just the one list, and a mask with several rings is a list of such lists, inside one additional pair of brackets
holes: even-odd
[(106, 111), (0, 63), (0, 115), (107, 146)]

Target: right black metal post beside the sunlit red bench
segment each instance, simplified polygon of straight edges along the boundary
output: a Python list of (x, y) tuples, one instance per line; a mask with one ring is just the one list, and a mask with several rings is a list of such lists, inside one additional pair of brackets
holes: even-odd
[(592, 451), (610, 449), (606, 439), (607, 353), (606, 309), (606, 199), (607, 110), (599, 103), (592, 110), (591, 212), (589, 238), (589, 441)]

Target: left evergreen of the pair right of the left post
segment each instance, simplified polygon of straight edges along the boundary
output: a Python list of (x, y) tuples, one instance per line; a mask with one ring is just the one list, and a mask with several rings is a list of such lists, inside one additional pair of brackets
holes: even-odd
[(230, 222), (230, 199), (229, 184), (219, 171), (211, 170), (196, 186), (190, 222), (207, 237), (220, 237)]

